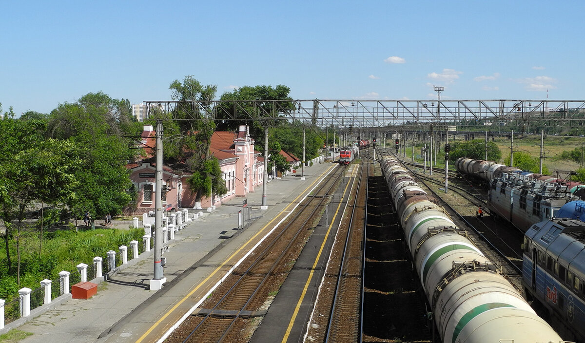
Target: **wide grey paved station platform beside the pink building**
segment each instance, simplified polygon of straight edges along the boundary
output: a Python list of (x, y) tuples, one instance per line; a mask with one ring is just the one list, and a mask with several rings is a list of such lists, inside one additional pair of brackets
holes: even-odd
[[(238, 233), (238, 210), (243, 198), (235, 198), (202, 219), (190, 222), (176, 234), (164, 253), (167, 283), (159, 291), (149, 290), (153, 277), (152, 254), (142, 254), (132, 265), (98, 286), (98, 294), (89, 300), (71, 299), (49, 310), (19, 330), (32, 332), (22, 343), (47, 342), (156, 342), (161, 332), (205, 296), (207, 286), (229, 272), (241, 258), (277, 224), (277, 218), (300, 202), (302, 193), (317, 184), (319, 176), (337, 167), (322, 163), (305, 168), (305, 181), (286, 176), (268, 183), (269, 209), (260, 208), (262, 191), (247, 197), (252, 206), (252, 225)], [(229, 260), (232, 258), (232, 260)], [(215, 283), (215, 282), (212, 282)], [(199, 289), (201, 287), (201, 289)]]

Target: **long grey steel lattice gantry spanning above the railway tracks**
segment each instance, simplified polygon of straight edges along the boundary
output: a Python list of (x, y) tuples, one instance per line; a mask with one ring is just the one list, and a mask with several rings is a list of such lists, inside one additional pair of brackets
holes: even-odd
[(287, 120), (318, 127), (386, 127), (585, 124), (583, 100), (288, 100), (288, 101), (145, 101), (147, 118), (156, 112), (183, 110), (194, 119)]

